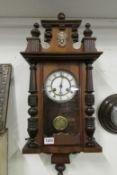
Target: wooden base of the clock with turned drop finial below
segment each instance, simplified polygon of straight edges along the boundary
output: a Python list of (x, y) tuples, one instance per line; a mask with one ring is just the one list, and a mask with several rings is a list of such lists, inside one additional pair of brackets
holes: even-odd
[(95, 143), (94, 147), (78, 147), (76, 146), (38, 146), (37, 148), (29, 148), (28, 143), (23, 148), (24, 154), (39, 154), (46, 153), (51, 154), (51, 163), (55, 164), (55, 169), (58, 171), (58, 175), (63, 175), (63, 171), (66, 169), (65, 164), (70, 163), (70, 154), (76, 153), (100, 153), (102, 147)]

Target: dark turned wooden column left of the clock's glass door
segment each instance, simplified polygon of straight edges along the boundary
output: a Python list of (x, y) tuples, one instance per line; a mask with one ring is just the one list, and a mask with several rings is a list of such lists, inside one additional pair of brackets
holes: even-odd
[(30, 66), (30, 86), (29, 86), (29, 93), (28, 96), (28, 105), (30, 106), (28, 113), (30, 118), (28, 118), (28, 134), (30, 138), (28, 139), (28, 146), (29, 147), (37, 147), (38, 145), (35, 143), (35, 137), (38, 132), (37, 126), (37, 85), (36, 85), (36, 66), (32, 64)]

